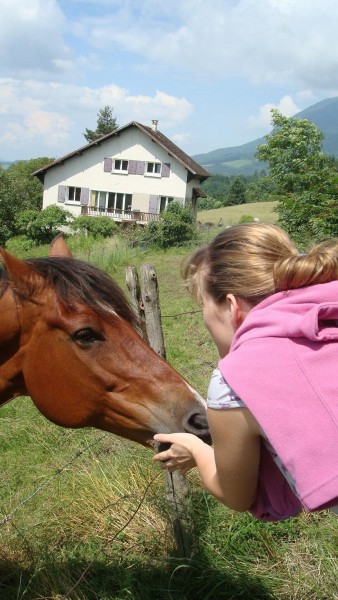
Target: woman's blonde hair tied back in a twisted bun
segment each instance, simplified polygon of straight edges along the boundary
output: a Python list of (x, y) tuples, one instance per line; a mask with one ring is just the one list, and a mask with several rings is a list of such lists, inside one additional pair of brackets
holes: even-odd
[(194, 252), (182, 275), (197, 301), (202, 275), (205, 291), (216, 302), (233, 294), (255, 306), (275, 292), (338, 279), (338, 240), (318, 243), (299, 254), (288, 234), (276, 225), (234, 225)]

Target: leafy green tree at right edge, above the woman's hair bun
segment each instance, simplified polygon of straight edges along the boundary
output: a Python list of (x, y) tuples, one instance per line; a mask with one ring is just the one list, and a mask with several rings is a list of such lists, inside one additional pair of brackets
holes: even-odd
[(274, 131), (256, 156), (277, 188), (279, 224), (300, 245), (338, 235), (338, 173), (322, 152), (323, 133), (307, 119), (272, 110)]

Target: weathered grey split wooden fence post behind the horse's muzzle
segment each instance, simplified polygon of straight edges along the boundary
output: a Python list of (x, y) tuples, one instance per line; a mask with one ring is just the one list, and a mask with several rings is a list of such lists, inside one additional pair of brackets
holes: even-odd
[[(141, 289), (135, 267), (128, 267), (126, 277), (129, 280), (129, 283), (127, 281), (128, 289), (134, 294), (134, 300), (131, 301), (132, 306), (135, 307), (134, 310), (140, 318), (144, 315), (148, 343), (157, 354), (166, 358), (155, 268), (148, 264), (141, 266)], [(130, 278), (134, 280), (134, 283), (130, 282)], [(138, 291), (135, 291), (137, 289)], [(135, 302), (138, 304), (137, 307)], [(187, 515), (189, 497), (187, 480), (178, 471), (174, 473), (165, 471), (164, 481), (177, 549), (182, 557), (190, 558), (193, 548), (193, 524)]]

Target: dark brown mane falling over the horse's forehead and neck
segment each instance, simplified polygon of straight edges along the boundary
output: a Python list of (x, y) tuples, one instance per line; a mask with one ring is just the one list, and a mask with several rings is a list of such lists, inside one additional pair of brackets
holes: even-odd
[[(136, 317), (120, 287), (103, 271), (74, 258), (52, 256), (25, 261), (55, 290), (68, 310), (76, 304), (89, 306), (106, 320), (112, 313), (135, 325)], [(32, 282), (33, 283), (33, 282)], [(0, 265), (0, 297), (9, 285), (5, 268)]]

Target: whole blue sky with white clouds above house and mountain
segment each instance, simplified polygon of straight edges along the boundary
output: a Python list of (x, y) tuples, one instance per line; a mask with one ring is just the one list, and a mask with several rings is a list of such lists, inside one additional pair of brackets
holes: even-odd
[(0, 161), (84, 146), (100, 109), (194, 156), (338, 96), (337, 0), (1, 0)]

